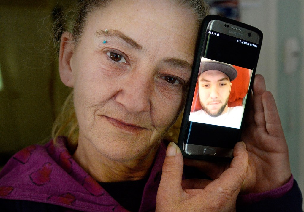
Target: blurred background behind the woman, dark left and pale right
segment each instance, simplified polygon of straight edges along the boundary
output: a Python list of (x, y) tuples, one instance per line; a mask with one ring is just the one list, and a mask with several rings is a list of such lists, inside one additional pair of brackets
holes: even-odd
[[(50, 139), (54, 119), (69, 93), (59, 78), (50, 30), (56, 11), (73, 2), (0, 0), (0, 167), (23, 147)], [(257, 73), (275, 96), (292, 173), (303, 193), (304, 1), (207, 2), (213, 14), (264, 33)]]

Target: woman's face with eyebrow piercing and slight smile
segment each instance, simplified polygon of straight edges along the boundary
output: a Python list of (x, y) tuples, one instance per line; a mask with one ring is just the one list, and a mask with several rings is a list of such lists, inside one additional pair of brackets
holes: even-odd
[(194, 15), (161, 0), (90, 13), (70, 60), (79, 143), (115, 160), (157, 146), (182, 108), (197, 30)]

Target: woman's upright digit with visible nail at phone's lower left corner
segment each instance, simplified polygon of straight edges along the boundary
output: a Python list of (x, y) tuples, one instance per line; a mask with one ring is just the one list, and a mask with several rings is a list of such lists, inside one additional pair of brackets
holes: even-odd
[(157, 195), (163, 197), (181, 197), (181, 179), (184, 160), (179, 147), (171, 142), (167, 147), (166, 158), (163, 163), (163, 172)]

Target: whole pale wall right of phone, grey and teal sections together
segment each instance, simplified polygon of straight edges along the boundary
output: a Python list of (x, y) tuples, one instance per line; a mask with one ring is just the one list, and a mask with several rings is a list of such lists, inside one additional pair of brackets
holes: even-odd
[[(257, 73), (265, 77), (274, 96), (289, 148), (292, 173), (304, 193), (304, 64), (300, 59), (295, 72), (284, 70), (287, 39), (299, 41), (303, 58), (304, 1), (240, 0), (241, 20), (264, 34)], [(301, 68), (302, 67), (302, 68)]]

